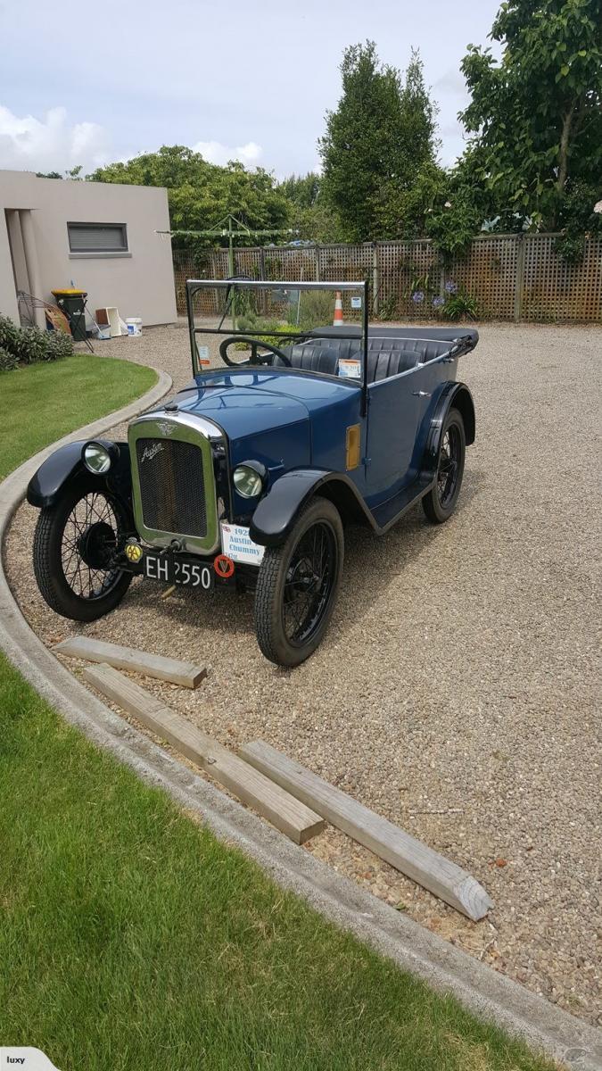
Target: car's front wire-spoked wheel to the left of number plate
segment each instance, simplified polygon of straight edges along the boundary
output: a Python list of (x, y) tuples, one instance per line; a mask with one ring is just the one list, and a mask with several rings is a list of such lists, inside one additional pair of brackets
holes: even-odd
[(131, 527), (123, 503), (93, 478), (72, 484), (60, 501), (41, 510), (33, 537), (33, 572), (50, 609), (72, 621), (95, 621), (121, 602), (132, 574), (102, 567), (112, 545), (109, 529), (117, 541)]

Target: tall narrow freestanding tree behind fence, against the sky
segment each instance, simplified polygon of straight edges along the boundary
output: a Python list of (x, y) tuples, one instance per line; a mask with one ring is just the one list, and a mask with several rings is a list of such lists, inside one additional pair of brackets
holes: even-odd
[[(417, 175), (436, 166), (437, 109), (424, 87), (422, 62), (412, 51), (402, 82), (367, 41), (345, 50), (341, 74), (343, 95), (336, 110), (327, 112), (318, 142), (323, 195), (348, 240), (398, 237)], [(415, 218), (410, 229), (421, 225)]]

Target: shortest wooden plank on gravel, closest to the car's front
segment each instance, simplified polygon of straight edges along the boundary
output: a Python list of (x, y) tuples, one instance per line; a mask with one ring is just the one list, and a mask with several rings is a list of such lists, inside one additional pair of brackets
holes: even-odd
[(137, 651), (120, 644), (105, 644), (102, 639), (91, 639), (89, 636), (72, 636), (61, 644), (55, 644), (54, 649), (70, 659), (107, 662), (118, 669), (131, 669), (133, 673), (146, 674), (147, 677), (182, 684), (183, 688), (197, 688), (207, 676), (206, 667), (195, 665), (194, 662), (166, 659), (163, 654), (149, 654), (148, 651)]

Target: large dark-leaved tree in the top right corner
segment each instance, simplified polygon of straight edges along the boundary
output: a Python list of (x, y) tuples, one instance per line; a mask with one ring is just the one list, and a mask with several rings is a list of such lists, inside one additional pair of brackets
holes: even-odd
[(591, 216), (602, 163), (602, 0), (507, 0), (491, 37), (501, 61), (469, 46), (462, 70), (471, 101), (461, 118), (502, 225), (556, 229), (574, 217), (577, 191)]

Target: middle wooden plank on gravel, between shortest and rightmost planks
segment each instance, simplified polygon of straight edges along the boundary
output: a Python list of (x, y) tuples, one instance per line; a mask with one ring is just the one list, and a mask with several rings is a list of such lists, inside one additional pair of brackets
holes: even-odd
[(182, 755), (268, 818), (296, 844), (303, 844), (316, 833), (321, 833), (325, 823), (319, 814), (117, 669), (109, 665), (90, 666), (84, 670), (84, 677), (108, 699), (134, 714), (152, 733), (167, 740)]

